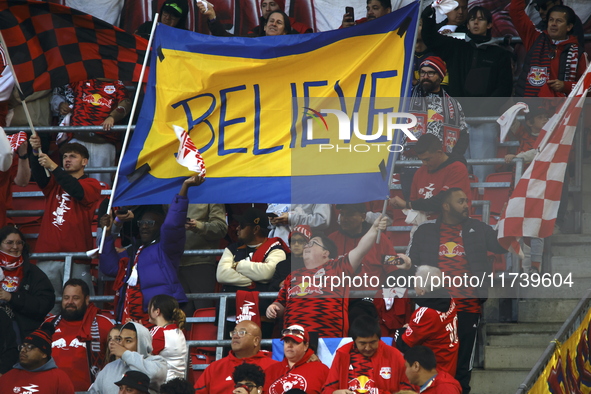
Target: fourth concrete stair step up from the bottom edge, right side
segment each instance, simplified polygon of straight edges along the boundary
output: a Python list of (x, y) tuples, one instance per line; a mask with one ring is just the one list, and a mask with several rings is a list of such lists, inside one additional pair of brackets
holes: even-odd
[(527, 299), (519, 301), (520, 323), (562, 323), (566, 321), (578, 299)]

